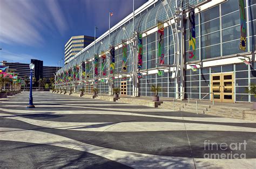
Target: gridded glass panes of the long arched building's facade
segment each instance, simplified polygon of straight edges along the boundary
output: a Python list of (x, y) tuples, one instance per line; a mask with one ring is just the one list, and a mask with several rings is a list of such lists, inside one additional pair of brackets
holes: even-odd
[[(198, 2), (195, 2), (195, 4)], [(163, 5), (158, 2), (154, 6), (151, 6), (147, 11), (142, 12), (139, 16), (136, 16), (135, 24), (138, 26), (138, 30), (142, 31), (142, 68), (140, 72), (143, 72), (142, 78), (138, 78), (138, 95), (139, 96), (153, 96), (151, 92), (151, 86), (160, 86), (162, 91), (159, 93), (160, 97), (176, 97), (176, 93), (180, 91), (180, 77), (172, 78), (173, 71), (167, 71), (162, 75), (157, 74), (160, 58), (158, 58), (158, 44), (159, 36), (157, 31), (150, 31), (156, 27), (157, 19), (162, 18), (166, 20), (166, 14), (162, 9)], [(211, 92), (211, 76), (213, 74), (221, 73), (233, 73), (234, 74), (234, 101), (235, 102), (252, 102), (256, 98), (253, 95), (246, 93), (246, 88), (250, 87), (250, 84), (256, 83), (256, 62), (252, 62), (252, 65), (248, 66), (241, 63), (239, 59), (233, 58), (236, 54), (251, 54), (255, 51), (255, 31), (256, 31), (256, 1), (249, 1), (248, 6), (245, 8), (247, 15), (247, 43), (246, 51), (239, 50), (240, 44), (240, 15), (239, 5), (237, 0), (229, 0), (210, 8), (196, 13), (196, 55), (194, 58), (189, 58), (189, 38), (190, 38), (190, 22), (187, 18), (184, 19), (184, 88), (185, 92), (190, 93), (190, 98), (200, 99)], [(131, 23), (124, 24), (128, 33), (131, 31)], [(151, 26), (151, 27), (150, 27)], [(154, 26), (154, 27), (152, 27)], [(122, 26), (121, 26), (122, 27)], [(116, 45), (115, 49), (115, 67), (113, 87), (120, 88), (121, 81), (126, 81), (127, 95), (133, 95), (133, 81), (129, 81), (127, 76), (126, 80), (122, 78), (125, 74), (122, 72), (122, 59), (123, 51), (121, 45), (121, 39), (127, 39), (127, 35), (121, 29), (114, 31), (112, 39), (113, 44)], [(164, 61), (165, 64), (173, 65), (177, 62), (177, 58), (174, 58), (174, 43), (176, 39), (176, 32), (172, 31), (174, 25), (166, 26), (164, 28)], [(130, 30), (130, 31), (129, 31)], [(156, 30), (156, 29), (154, 29)], [(145, 32), (144, 32), (145, 31)], [(150, 32), (150, 33), (147, 33)], [(131, 34), (131, 33), (130, 33)], [(129, 34), (129, 36), (130, 36)], [(109, 37), (105, 37), (102, 41), (106, 43)], [(127, 41), (128, 43), (129, 41)], [(96, 51), (103, 51), (103, 45), (96, 45)], [(93, 47), (92, 47), (93, 48)], [(105, 45), (105, 48), (107, 46)], [(97, 50), (98, 49), (98, 50)], [(92, 52), (88, 50), (90, 55)], [(82, 54), (82, 57), (86, 57), (87, 53)], [(88, 54), (88, 55), (89, 55)], [(137, 56), (136, 56), (137, 57)], [(223, 60), (224, 58), (231, 58), (230, 60)], [(214, 60), (213, 60), (214, 59)], [(192, 71), (188, 66), (188, 62), (200, 62), (201, 68), (196, 71)], [(206, 64), (205, 66), (205, 62)], [(209, 64), (210, 63), (210, 64)], [(99, 70), (102, 69), (102, 59), (99, 58)], [(93, 64), (91, 64), (91, 67)], [(127, 44), (127, 73), (131, 73), (132, 69), (132, 48)], [(105, 65), (108, 70), (108, 64)], [(150, 72), (151, 71), (151, 72)], [(102, 76), (102, 72), (100, 76)], [(107, 71), (106, 71), (107, 72)], [(126, 73), (126, 74), (127, 74)], [(179, 74), (179, 73), (178, 73)], [(108, 74), (106, 74), (107, 76)], [(90, 76), (91, 78), (91, 76)], [(107, 94), (109, 86), (106, 82), (98, 82), (99, 93)], [(187, 97), (187, 95), (186, 95)], [(210, 100), (210, 96), (207, 95), (205, 100)]]

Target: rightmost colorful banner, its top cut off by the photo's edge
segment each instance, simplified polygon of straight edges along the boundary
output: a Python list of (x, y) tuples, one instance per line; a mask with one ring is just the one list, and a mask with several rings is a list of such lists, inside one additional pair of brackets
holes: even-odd
[(245, 17), (245, 2), (244, 0), (239, 0), (239, 10), (240, 10), (240, 45), (239, 49), (242, 51), (246, 50), (246, 17)]

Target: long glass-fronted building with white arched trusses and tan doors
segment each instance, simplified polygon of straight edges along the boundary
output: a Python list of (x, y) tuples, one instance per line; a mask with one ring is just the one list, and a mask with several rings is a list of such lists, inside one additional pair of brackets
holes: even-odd
[[(131, 13), (110, 31), (102, 34), (96, 40), (95, 46), (91, 43), (85, 47), (81, 53), (75, 55), (76, 59), (70, 60), (70, 64), (65, 65), (57, 75), (65, 77), (65, 72), (72, 72), (73, 66), (80, 66), (86, 75), (85, 78), (80, 76), (79, 81), (83, 85), (79, 87), (85, 87), (86, 91), (98, 87), (99, 93), (102, 94), (111, 94), (113, 86), (120, 88), (123, 96), (153, 96), (151, 86), (154, 85), (163, 89), (158, 93), (160, 97), (187, 98), (190, 95), (192, 99), (212, 100), (210, 93), (214, 93), (214, 101), (218, 102), (255, 102), (256, 98), (249, 94), (246, 88), (256, 84), (256, 1), (244, 2), (245, 50), (239, 49), (239, 1), (154, 0), (146, 2), (134, 11), (134, 17)], [(182, 6), (181, 10), (175, 8), (177, 5)], [(188, 16), (192, 9), (196, 48), (194, 57), (191, 58), (189, 41), (192, 29)], [(161, 36), (161, 47), (164, 47), (163, 65), (159, 64), (159, 21), (164, 23)], [(142, 33), (142, 66), (139, 69), (138, 32)], [(109, 41), (114, 46), (114, 73), (109, 74), (106, 71), (103, 76), (102, 70), (108, 70), (110, 67), (109, 64), (103, 64), (102, 67), (102, 63), (106, 63), (102, 51), (108, 55), (106, 58), (110, 56)], [(125, 59), (123, 47), (127, 50)], [(98, 75), (95, 75), (95, 54), (99, 56)], [(125, 72), (123, 60), (127, 66)], [(88, 73), (83, 67), (85, 64), (90, 66)], [(159, 71), (162, 72), (158, 73)], [(139, 78), (138, 73), (141, 75)], [(87, 74), (89, 78), (86, 78)], [(60, 83), (62, 87), (65, 87), (67, 82), (68, 87), (77, 87), (77, 79), (65, 80), (66, 83)]]

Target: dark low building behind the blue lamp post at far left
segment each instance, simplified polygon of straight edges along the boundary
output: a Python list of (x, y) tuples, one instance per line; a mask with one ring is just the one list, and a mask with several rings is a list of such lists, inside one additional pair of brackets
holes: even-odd
[[(31, 59), (31, 62), (35, 64), (35, 69), (33, 71), (33, 77), (36, 78), (38, 81), (40, 78), (45, 78), (46, 83), (50, 83), (50, 78), (54, 78), (56, 72), (60, 67), (56, 66), (43, 66), (43, 61), (42, 60), (36, 60), (36, 59)], [(24, 80), (24, 77), (27, 76), (28, 78), (30, 77), (30, 68), (29, 64), (22, 64), (19, 62), (7, 62), (7, 61), (2, 61), (2, 65), (8, 66), (9, 70), (14, 71), (15, 73), (18, 74), (18, 79)]]

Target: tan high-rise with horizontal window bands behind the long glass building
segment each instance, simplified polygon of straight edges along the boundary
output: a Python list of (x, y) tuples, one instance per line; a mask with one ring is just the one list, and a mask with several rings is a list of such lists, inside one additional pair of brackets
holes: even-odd
[(94, 37), (90, 36), (71, 37), (65, 45), (65, 64), (67, 64), (70, 59), (73, 59), (78, 52), (82, 51), (84, 47), (92, 43), (92, 41), (94, 41)]

